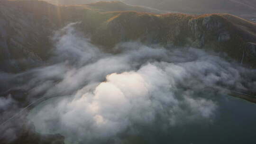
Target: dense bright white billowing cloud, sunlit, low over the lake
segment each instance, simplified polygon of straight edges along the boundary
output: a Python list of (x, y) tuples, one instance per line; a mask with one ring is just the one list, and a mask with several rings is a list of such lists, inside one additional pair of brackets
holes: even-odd
[(188, 91), (176, 99), (174, 78), (159, 69), (158, 64), (146, 64), (137, 72), (112, 73), (95, 89), (88, 90), (85, 86), (82, 88), (85, 93), (79, 91), (75, 99), (64, 98), (53, 107), (48, 101), (31, 120), (42, 133), (57, 123), (60, 126), (55, 133), (62, 133), (70, 141), (77, 140), (69, 137), (71, 133), (81, 135), (83, 142), (107, 140), (130, 127), (136, 129), (133, 125), (150, 126), (159, 118), (168, 119), (169, 126), (201, 118), (210, 120), (217, 104), (193, 98)]

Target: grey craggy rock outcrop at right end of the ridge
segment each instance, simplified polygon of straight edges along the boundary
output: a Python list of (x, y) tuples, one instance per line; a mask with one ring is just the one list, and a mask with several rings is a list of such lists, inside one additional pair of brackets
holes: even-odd
[(228, 14), (212, 14), (191, 18), (188, 26), (193, 47), (224, 52), (237, 61), (242, 59), (248, 67), (256, 67), (252, 55), (252, 44), (256, 43), (255, 24)]

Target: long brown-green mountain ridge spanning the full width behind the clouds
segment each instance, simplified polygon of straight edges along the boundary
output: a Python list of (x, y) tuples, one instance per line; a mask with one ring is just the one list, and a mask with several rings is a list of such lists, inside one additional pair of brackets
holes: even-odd
[[(2, 3), (0, 18), (3, 22), (0, 26), (10, 31), (1, 33), (0, 46), (9, 51), (1, 53), (1, 67), (13, 72), (45, 63), (53, 46), (49, 39), (52, 31), (77, 21), (81, 21), (80, 30), (91, 35), (91, 42), (106, 50), (127, 41), (165, 47), (192, 46), (224, 52), (239, 63), (255, 67), (256, 24), (237, 16), (155, 14), (130, 11), (130, 7), (124, 11), (111, 10), (110, 5), (116, 2), (75, 6), (55, 6), (40, 0), (6, 0)], [(93, 9), (95, 5), (99, 8), (99, 4), (100, 9)], [(6, 12), (8, 10), (10, 12)], [(9, 18), (10, 15), (13, 18)], [(42, 29), (44, 33), (41, 33)], [(14, 64), (10, 66), (10, 62)]]

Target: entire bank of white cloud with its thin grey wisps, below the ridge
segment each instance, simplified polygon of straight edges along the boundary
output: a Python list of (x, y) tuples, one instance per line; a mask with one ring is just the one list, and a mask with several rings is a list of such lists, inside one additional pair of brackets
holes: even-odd
[[(55, 64), (5, 78), (13, 88), (28, 90), (32, 102), (38, 96), (57, 97), (30, 112), (38, 132), (60, 133), (72, 143), (119, 143), (121, 135), (140, 135), (148, 127), (165, 131), (214, 122), (221, 101), (207, 87), (256, 87), (255, 70), (214, 53), (130, 42), (116, 46), (120, 53), (107, 54), (75, 26), (55, 33), (55, 56), (49, 62)], [(10, 102), (0, 99), (0, 108)]]

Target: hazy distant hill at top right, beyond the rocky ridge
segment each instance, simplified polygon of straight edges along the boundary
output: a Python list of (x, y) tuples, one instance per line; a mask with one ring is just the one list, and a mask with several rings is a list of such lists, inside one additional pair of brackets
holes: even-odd
[(125, 0), (125, 2), (187, 13), (256, 12), (256, 0)]

